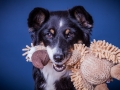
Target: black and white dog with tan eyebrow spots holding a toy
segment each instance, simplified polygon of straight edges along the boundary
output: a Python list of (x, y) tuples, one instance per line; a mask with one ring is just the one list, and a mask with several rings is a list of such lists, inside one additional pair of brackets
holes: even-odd
[(41, 70), (33, 67), (35, 90), (75, 90), (65, 62), (73, 44), (89, 46), (92, 26), (93, 19), (82, 6), (52, 12), (37, 7), (30, 12), (28, 27), (33, 44), (43, 42), (51, 60)]

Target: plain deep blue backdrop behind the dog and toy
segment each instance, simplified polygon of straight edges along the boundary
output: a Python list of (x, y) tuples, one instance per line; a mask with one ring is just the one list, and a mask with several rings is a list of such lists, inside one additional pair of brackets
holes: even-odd
[[(0, 0), (0, 90), (33, 90), (32, 64), (22, 57), (22, 48), (30, 45), (27, 18), (34, 7), (67, 10), (82, 5), (93, 16), (91, 37), (106, 40), (120, 48), (119, 0)], [(120, 81), (108, 84), (120, 90)]]

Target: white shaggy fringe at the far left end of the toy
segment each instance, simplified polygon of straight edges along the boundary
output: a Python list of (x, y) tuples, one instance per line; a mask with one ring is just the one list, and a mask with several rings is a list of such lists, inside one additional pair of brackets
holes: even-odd
[(33, 43), (31, 43), (31, 46), (26, 45), (26, 48), (22, 49), (22, 51), (25, 51), (22, 56), (26, 55), (26, 61), (32, 62), (32, 54), (36, 51), (36, 47), (33, 45)]

